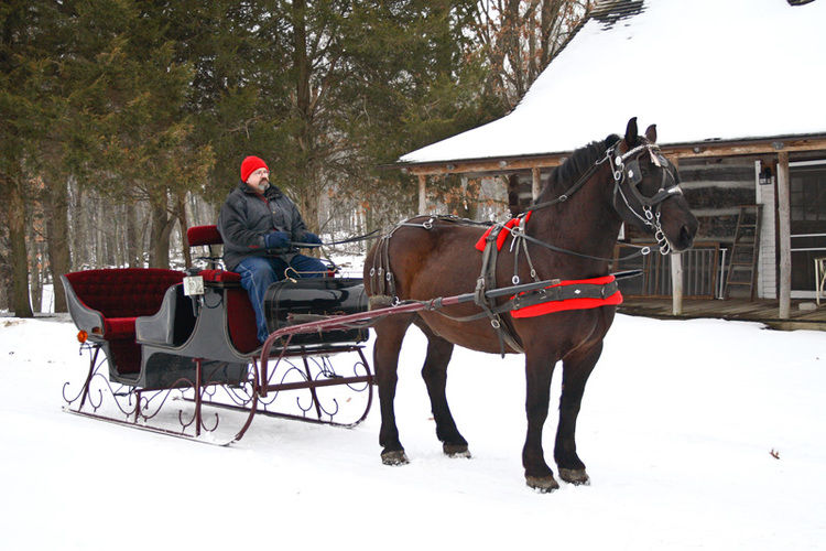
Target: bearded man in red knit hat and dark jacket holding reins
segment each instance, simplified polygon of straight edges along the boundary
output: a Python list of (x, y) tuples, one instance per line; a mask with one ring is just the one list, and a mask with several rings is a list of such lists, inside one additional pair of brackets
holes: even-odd
[(224, 239), (224, 263), (241, 274), (241, 287), (256, 311), (258, 339), (267, 341), (264, 292), (275, 281), (291, 276), (320, 278), (327, 267), (317, 258), (300, 255), (294, 244), (320, 245), (307, 231), (295, 203), (270, 184), (270, 169), (258, 156), (241, 163), (241, 183), (227, 197), (218, 216)]

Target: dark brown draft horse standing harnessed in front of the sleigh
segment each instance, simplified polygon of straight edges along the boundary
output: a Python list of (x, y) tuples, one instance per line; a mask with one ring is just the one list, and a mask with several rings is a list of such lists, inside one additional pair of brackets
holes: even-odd
[[(637, 119), (632, 118), (624, 137), (611, 134), (591, 142), (555, 168), (536, 203), (530, 207), (531, 216), (520, 222), (523, 235), (530, 238), (524, 244), (524, 253), (514, 258), (520, 246), (504, 247), (496, 266), (490, 268), (491, 282), (494, 280), (501, 288), (529, 278), (536, 281), (607, 277), (623, 222), (653, 235), (662, 253), (689, 248), (697, 231), (697, 219), (678, 186), (676, 166), (662, 155), (655, 142), (656, 127), (652, 125), (644, 136), (639, 136)], [(400, 224), (374, 245), (366, 258), (365, 289), (371, 304), (377, 300), (398, 303), (467, 293), (474, 282), (483, 279), (479, 276), (483, 270), (483, 255), (474, 249), (482, 231), (478, 225), (439, 217), (415, 217)], [(504, 231), (511, 231), (506, 236), (512, 239), (519, 235), (514, 230)], [(383, 274), (382, 262), (385, 264)], [(392, 293), (388, 293), (387, 281), (392, 281)], [(503, 300), (498, 299), (497, 304)], [(422, 377), (436, 422), (436, 436), (445, 454), (470, 456), (445, 395), (447, 365), (454, 346), (492, 354), (523, 352), (528, 415), (522, 450), (525, 483), (542, 493), (559, 487), (545, 462), (542, 432), (548, 413), (553, 370), (562, 360), (563, 386), (554, 461), (563, 480), (589, 484), (585, 464), (576, 452), (576, 420), (616, 305), (564, 310), (534, 317), (518, 317), (509, 311), (493, 317), (479, 314), (480, 310), (489, 309), (474, 303), (458, 304), (442, 311), (389, 315), (373, 325), (382, 462), (387, 465), (409, 462), (399, 439), (393, 400), (402, 339), (410, 325), (415, 324), (427, 337)], [(512, 338), (504, 342), (498, 338), (501, 327), (497, 325), (507, 326)]]

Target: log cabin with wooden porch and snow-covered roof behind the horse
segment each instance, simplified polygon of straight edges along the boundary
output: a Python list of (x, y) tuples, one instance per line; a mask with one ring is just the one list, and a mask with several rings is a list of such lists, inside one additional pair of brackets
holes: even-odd
[(399, 163), (423, 213), (444, 174), (498, 176), (524, 206), (573, 150), (638, 116), (657, 125), (700, 228), (627, 293), (671, 295), (674, 313), (684, 295), (776, 299), (787, 318), (826, 256), (823, 21), (826, 0), (601, 2), (511, 114)]

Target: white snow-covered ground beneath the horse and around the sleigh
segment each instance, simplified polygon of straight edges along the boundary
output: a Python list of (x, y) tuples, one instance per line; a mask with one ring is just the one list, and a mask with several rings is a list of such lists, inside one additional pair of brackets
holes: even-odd
[(550, 495), (523, 480), (522, 358), (454, 355), (474, 457), (450, 460), (423, 346), (396, 401), (411, 464), (387, 467), (377, 407), (350, 430), (257, 418), (231, 447), (64, 413), (74, 325), (0, 318), (0, 549), (826, 549), (826, 334), (618, 316), (579, 420), (591, 485)]

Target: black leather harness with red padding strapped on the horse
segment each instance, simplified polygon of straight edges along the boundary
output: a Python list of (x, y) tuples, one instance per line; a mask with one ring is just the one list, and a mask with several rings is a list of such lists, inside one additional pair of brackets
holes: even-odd
[[(611, 148), (606, 150), (602, 158), (597, 160), (570, 187), (568, 187), (558, 197), (534, 204), (528, 208), (524, 213), (519, 215), (517, 218), (511, 218), (507, 223), (498, 223), (492, 225), (488, 231), (485, 233), (481, 239), (476, 244), (476, 248), (482, 251), (482, 263), (481, 272), (476, 280), (476, 288), (474, 290), (474, 303), (481, 310), (480, 313), (469, 316), (450, 316), (438, 310), (435, 310), (441, 315), (449, 317), (450, 320), (458, 322), (469, 322), (488, 317), (490, 325), (496, 329), (499, 338), (499, 347), (502, 356), (504, 355), (504, 345), (507, 344), (511, 349), (522, 353), (522, 343), (519, 339), (515, 331), (513, 329), (509, 318), (503, 317), (501, 314), (511, 313), (511, 317), (529, 317), (535, 315), (544, 315), (551, 312), (558, 312), (562, 310), (575, 310), (586, 307), (597, 307), (609, 304), (619, 304), (622, 302), (622, 295), (619, 292), (617, 285), (617, 279), (622, 277), (631, 277), (637, 273), (626, 272), (623, 274), (607, 276), (602, 278), (595, 278), (591, 280), (575, 280), (575, 281), (559, 281), (553, 280), (551, 285), (536, 287), (540, 283), (536, 270), (534, 269), (531, 255), (528, 250), (528, 244), (534, 244), (555, 252), (562, 252), (566, 255), (576, 256), (579, 258), (587, 258), (598, 261), (613, 261), (612, 258), (595, 257), (585, 255), (583, 252), (564, 249), (562, 247), (554, 246), (552, 244), (542, 241), (534, 237), (525, 234), (525, 224), (531, 217), (533, 210), (546, 208), (552, 205), (564, 203), (568, 201), (577, 191), (579, 191), (585, 183), (601, 168), (606, 162), (609, 163), (611, 174), (613, 177), (613, 207), (618, 209), (618, 199), (621, 199), (626, 207), (639, 218), (645, 226), (650, 227), (654, 233), (659, 250), (661, 255), (667, 255), (671, 251), (671, 247), (665, 238), (665, 234), (662, 230), (660, 223), (660, 207), (662, 203), (674, 194), (682, 194), (676, 179), (672, 174), (669, 168), (669, 161), (662, 155), (660, 148), (648, 141), (643, 141), (642, 144), (632, 148), (626, 153), (618, 153), (617, 147), (619, 142)], [(655, 166), (660, 166), (662, 170), (662, 182), (657, 192), (646, 197), (640, 193), (638, 186), (642, 182), (642, 171), (640, 169), (640, 158), (648, 153), (651, 158), (651, 162)], [(623, 185), (626, 184), (626, 185)], [(628, 190), (626, 190), (628, 188)], [(628, 194), (633, 196), (634, 199), (640, 204), (641, 212), (635, 209), (628, 198)], [(395, 281), (392, 272), (390, 271), (390, 257), (389, 257), (389, 242), (390, 238), (400, 227), (420, 227), (425, 230), (433, 228), (435, 222), (447, 222), (454, 224), (465, 225), (479, 225), (489, 226), (489, 223), (479, 223), (468, 220), (466, 218), (458, 218), (455, 216), (432, 216), (424, 223), (412, 223), (410, 219), (402, 222), (396, 225), (390, 233), (381, 238), (377, 247), (377, 252), (373, 257), (373, 266), (370, 268), (370, 281), (371, 289), (373, 290), (373, 296), (370, 299), (370, 307), (376, 309), (379, 306), (385, 306), (389, 304), (398, 304), (399, 298), (395, 294)], [(519, 256), (520, 250), (524, 251), (525, 260), (529, 266), (530, 274), (533, 280), (533, 289), (517, 293), (511, 296), (507, 302), (497, 305), (494, 300), (490, 298), (490, 291), (496, 289), (496, 270), (497, 259), (499, 250), (504, 245), (508, 235), (513, 238), (510, 245), (510, 250), (513, 251), (513, 277), (511, 282), (513, 285), (520, 284), (519, 278)], [(639, 250), (620, 258), (619, 260), (628, 260), (639, 256), (645, 256), (651, 252), (651, 248), (648, 246), (640, 246)], [(582, 299), (587, 301), (580, 302)], [(565, 302), (569, 304), (563, 304)], [(570, 304), (570, 303), (574, 304)], [(554, 305), (550, 305), (554, 303)]]

